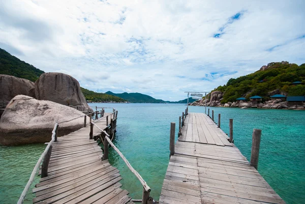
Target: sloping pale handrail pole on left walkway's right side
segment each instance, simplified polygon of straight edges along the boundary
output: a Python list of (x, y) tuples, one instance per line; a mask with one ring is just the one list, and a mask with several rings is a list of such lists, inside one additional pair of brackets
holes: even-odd
[(115, 145), (112, 143), (112, 141), (110, 140), (110, 135), (105, 131), (102, 130), (99, 126), (97, 126), (94, 122), (92, 122), (93, 125), (95, 125), (100, 131), (105, 133), (105, 138), (107, 139), (107, 141), (109, 142), (109, 144), (111, 145), (111, 147), (117, 152), (117, 154), (124, 160), (124, 162), (126, 163), (127, 167), (129, 168), (129, 170), (131, 170), (131, 172), (133, 172), (133, 174), (135, 174), (135, 176), (137, 177), (137, 179), (141, 182), (143, 188), (145, 191), (150, 192), (151, 189), (150, 187), (146, 184), (146, 182), (144, 181), (144, 179), (141, 177), (141, 175), (131, 166), (131, 164), (129, 163), (129, 161), (125, 158), (125, 156), (115, 147)]

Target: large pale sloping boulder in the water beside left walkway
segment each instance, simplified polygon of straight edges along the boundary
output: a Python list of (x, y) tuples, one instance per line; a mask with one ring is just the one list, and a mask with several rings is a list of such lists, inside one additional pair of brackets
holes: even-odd
[(59, 124), (58, 136), (62, 136), (82, 128), (84, 116), (81, 111), (59, 103), (18, 95), (7, 105), (0, 120), (0, 143), (48, 142), (55, 123)]

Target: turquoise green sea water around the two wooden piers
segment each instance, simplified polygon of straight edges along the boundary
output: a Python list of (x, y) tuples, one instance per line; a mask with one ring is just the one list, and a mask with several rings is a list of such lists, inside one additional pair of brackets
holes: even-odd
[[(118, 110), (116, 147), (140, 173), (158, 200), (169, 161), (170, 122), (185, 110), (183, 104), (91, 104)], [(110, 111), (110, 109), (108, 109)], [(305, 203), (305, 111), (210, 107), (221, 113), (221, 128), (229, 132), (233, 119), (234, 143), (248, 160), (252, 131), (262, 129), (258, 170), (287, 203)], [(107, 110), (106, 110), (107, 111)], [(189, 106), (189, 112), (205, 112)], [(216, 118), (216, 117), (215, 117)], [(16, 203), (46, 145), (0, 146), (0, 203)], [(110, 149), (109, 161), (120, 170), (121, 184), (134, 199), (142, 186), (124, 161)], [(39, 176), (32, 187), (39, 181)], [(31, 203), (28, 193), (24, 203)]]

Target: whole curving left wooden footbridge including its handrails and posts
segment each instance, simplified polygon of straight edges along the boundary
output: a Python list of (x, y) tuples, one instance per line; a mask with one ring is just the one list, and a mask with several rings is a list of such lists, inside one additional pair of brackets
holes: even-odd
[[(18, 203), (22, 203), (29, 186), (42, 162), (41, 179), (33, 193), (33, 203), (134, 203), (127, 190), (121, 189), (118, 169), (108, 162), (109, 144), (125, 161), (143, 185), (142, 199), (147, 203), (150, 188), (112, 143), (117, 120), (117, 111), (105, 113), (104, 108), (93, 115), (84, 116), (84, 127), (57, 138), (60, 124), (55, 124), (52, 139), (38, 160)], [(100, 118), (98, 119), (98, 114)], [(87, 126), (87, 118), (90, 126)], [(97, 141), (95, 141), (97, 140)], [(104, 154), (98, 145), (103, 143)]]

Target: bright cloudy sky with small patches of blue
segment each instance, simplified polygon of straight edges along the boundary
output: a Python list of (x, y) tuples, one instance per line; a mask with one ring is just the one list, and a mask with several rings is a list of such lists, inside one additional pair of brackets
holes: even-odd
[(2, 0), (0, 47), (89, 90), (175, 101), (305, 63), (305, 1)]

